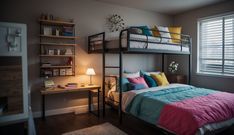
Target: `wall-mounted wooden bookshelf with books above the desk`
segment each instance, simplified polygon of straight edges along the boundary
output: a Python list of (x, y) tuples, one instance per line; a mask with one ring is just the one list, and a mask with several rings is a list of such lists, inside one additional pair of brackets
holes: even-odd
[(75, 76), (75, 23), (39, 19), (40, 76)]

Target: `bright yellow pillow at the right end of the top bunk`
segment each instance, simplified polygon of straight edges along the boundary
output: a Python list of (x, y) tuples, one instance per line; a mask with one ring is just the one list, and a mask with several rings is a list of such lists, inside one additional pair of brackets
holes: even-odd
[[(171, 38), (172, 38), (172, 43), (180, 43), (181, 35), (181, 27), (168, 27), (168, 30), (170, 32)], [(172, 33), (177, 33), (177, 34), (172, 34)], [(177, 40), (178, 39), (178, 40)]]

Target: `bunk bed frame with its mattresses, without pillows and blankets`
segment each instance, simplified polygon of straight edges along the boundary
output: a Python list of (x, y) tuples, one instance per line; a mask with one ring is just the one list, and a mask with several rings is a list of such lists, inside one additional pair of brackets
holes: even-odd
[[(154, 31), (152, 29), (149, 29), (150, 31)], [(163, 31), (165, 32), (165, 31)], [(167, 32), (165, 32), (167, 33)], [(177, 33), (170, 33), (170, 34), (177, 34)], [(136, 34), (131, 32), (131, 28), (124, 29), (120, 32), (119, 37), (113, 40), (107, 40), (105, 32), (98, 33), (95, 35), (91, 35), (88, 37), (88, 53), (101, 53), (103, 56), (103, 116), (105, 116), (105, 105), (111, 105), (114, 108), (118, 109), (119, 114), (119, 122), (122, 123), (122, 115), (124, 114), (130, 114), (132, 116), (135, 116), (129, 112), (126, 112), (126, 93), (122, 91), (123, 86), (122, 84), (122, 77), (123, 77), (123, 54), (129, 54), (129, 53), (135, 53), (135, 54), (161, 54), (162, 56), (162, 72), (164, 72), (164, 56), (170, 55), (170, 54), (176, 54), (176, 55), (186, 55), (189, 57), (188, 59), (188, 84), (190, 84), (191, 80), (191, 49), (192, 49), (192, 39), (189, 35), (183, 35), (180, 34), (181, 38), (176, 39), (178, 40), (177, 43), (172, 43), (171, 40), (167, 37), (152, 37), (148, 35), (143, 34)], [(106, 65), (106, 54), (107, 53), (117, 53), (119, 54), (119, 65)], [(118, 69), (119, 74), (117, 76), (111, 76), (106, 75), (106, 69)], [(114, 78), (114, 81), (116, 82), (116, 86), (112, 89), (109, 87), (106, 87), (106, 78)], [(118, 85), (119, 84), (119, 85)], [(118, 86), (117, 86), (118, 85)], [(182, 87), (182, 85), (179, 85)], [(177, 85), (170, 87), (178, 87)], [(185, 86), (183, 86), (185, 87)], [(186, 86), (186, 88), (190, 88), (189, 85)], [(118, 89), (118, 92), (114, 92)], [(158, 88), (160, 89), (160, 88)], [(133, 92), (134, 93), (134, 92)], [(124, 94), (124, 95), (123, 95)], [(132, 94), (132, 93), (131, 93)], [(136, 95), (136, 94), (135, 94)], [(123, 97), (124, 96), (124, 97)], [(131, 96), (130, 96), (131, 97)], [(125, 101), (123, 101), (125, 100)], [(124, 102), (124, 103), (123, 103)], [(233, 112), (234, 113), (234, 112)], [(173, 133), (172, 131), (160, 127), (155, 126), (155, 124), (152, 124), (151, 122), (148, 122), (147, 120), (138, 118), (137, 119), (143, 120), (143, 122), (154, 125), (154, 127), (159, 128), (163, 130), (163, 132), (166, 131), (166, 133)], [(226, 122), (226, 123), (225, 123)], [(230, 124), (234, 123), (234, 119), (231, 119), (229, 121), (225, 121), (223, 126), (230, 126)], [(204, 129), (199, 129), (202, 132), (205, 132), (207, 128), (210, 127), (220, 127), (217, 125), (208, 125), (208, 127), (205, 127)], [(215, 128), (214, 128), (215, 129)], [(175, 133), (175, 132), (174, 132)], [(200, 132), (199, 132), (200, 133)]]

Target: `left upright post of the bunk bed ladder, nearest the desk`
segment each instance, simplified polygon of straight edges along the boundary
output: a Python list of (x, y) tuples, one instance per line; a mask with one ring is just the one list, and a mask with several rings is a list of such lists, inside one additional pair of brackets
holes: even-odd
[(103, 48), (102, 48), (102, 113), (103, 113), (103, 117), (105, 117), (105, 97), (106, 97), (106, 91), (105, 91), (105, 76), (106, 76), (106, 70), (105, 70), (105, 66), (106, 66), (106, 43), (105, 43), (105, 33), (103, 33), (103, 37), (102, 37), (102, 42), (103, 42)]

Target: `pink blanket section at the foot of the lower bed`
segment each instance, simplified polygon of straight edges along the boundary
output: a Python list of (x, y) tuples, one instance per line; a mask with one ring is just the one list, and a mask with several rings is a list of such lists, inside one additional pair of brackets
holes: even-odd
[(159, 125), (178, 135), (194, 135), (205, 124), (234, 117), (234, 94), (217, 92), (166, 105)]

